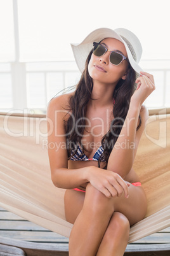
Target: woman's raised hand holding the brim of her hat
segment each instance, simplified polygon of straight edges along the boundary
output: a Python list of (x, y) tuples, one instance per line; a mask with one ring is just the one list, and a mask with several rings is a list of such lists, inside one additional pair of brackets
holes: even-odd
[(147, 72), (141, 72), (140, 77), (136, 79), (137, 89), (134, 92), (131, 100), (143, 104), (145, 99), (155, 90), (154, 76)]

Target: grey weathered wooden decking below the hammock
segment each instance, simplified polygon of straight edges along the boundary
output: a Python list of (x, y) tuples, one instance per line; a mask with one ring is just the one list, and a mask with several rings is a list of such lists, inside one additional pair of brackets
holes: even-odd
[[(69, 239), (65, 238), (63, 236), (60, 236), (59, 234), (56, 234), (55, 232), (48, 231), (47, 229), (44, 229), (40, 227), (39, 225), (33, 224), (32, 222), (28, 222), (27, 220), (24, 220), (23, 218), (18, 217), (17, 215), (10, 213), (6, 210), (3, 210), (3, 208), (0, 209), (0, 236), (3, 238), (15, 238), (18, 239), (18, 243), (21, 243), (22, 241), (32, 241), (41, 243), (41, 245), (44, 245), (45, 243), (48, 243), (48, 245), (58, 245), (59, 249), (62, 248), (61, 246), (68, 246)], [(142, 238), (138, 241), (135, 241), (134, 243), (131, 243), (127, 246), (127, 248), (130, 248), (129, 246), (133, 246), (133, 248), (140, 248), (140, 246), (150, 246), (150, 243), (156, 244), (156, 243), (169, 243), (170, 241), (170, 227), (167, 229), (164, 229), (160, 232), (157, 232), (155, 234), (152, 234), (150, 236), (147, 236), (146, 238)], [(1, 243), (1, 241), (0, 241)], [(155, 246), (155, 245), (153, 245)], [(159, 248), (161, 245), (159, 245)], [(135, 249), (136, 250), (136, 249)], [(36, 251), (37, 252), (37, 251)], [(35, 252), (32, 252), (33, 254)], [(48, 253), (52, 253), (51, 251)], [(63, 253), (63, 252), (62, 252)], [(67, 252), (64, 252), (67, 253)], [(126, 253), (124, 255), (145, 255), (147, 254), (127, 254), (129, 253), (126, 250)], [(133, 250), (131, 250), (131, 253), (133, 253)], [(139, 252), (141, 253), (141, 252)], [(31, 255), (33, 255), (31, 254)], [(37, 255), (46, 255), (44, 252), (41, 254), (35, 254)], [(60, 255), (60, 254), (47, 254), (49, 255)], [(68, 254), (61, 254), (61, 255), (68, 255)], [(152, 255), (152, 254), (148, 254)], [(160, 255), (163, 256), (164, 254), (154, 254), (154, 255)]]

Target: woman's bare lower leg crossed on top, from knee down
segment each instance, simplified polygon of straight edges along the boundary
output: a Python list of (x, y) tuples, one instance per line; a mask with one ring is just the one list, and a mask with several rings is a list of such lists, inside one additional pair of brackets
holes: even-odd
[[(86, 188), (82, 210), (76, 218), (70, 234), (70, 256), (95, 256), (114, 212), (113, 206), (107, 203), (109, 199), (96, 189), (96, 193), (91, 194), (90, 188), (93, 190), (91, 185)], [(92, 200), (89, 199), (90, 195), (91, 199), (93, 197)], [(100, 203), (97, 203), (99, 197), (101, 197)]]

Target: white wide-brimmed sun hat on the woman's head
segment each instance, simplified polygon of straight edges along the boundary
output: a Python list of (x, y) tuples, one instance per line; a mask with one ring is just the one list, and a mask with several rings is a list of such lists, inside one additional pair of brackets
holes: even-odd
[[(93, 42), (99, 43), (105, 38), (115, 38), (121, 41), (126, 47), (128, 59), (134, 71), (136, 71), (138, 74), (140, 71), (143, 71), (143, 69), (141, 69), (138, 65), (141, 59), (142, 48), (140, 40), (137, 38), (137, 36), (128, 29), (112, 30), (103, 27), (91, 32), (81, 43), (71, 44), (75, 62), (77, 63), (81, 73), (84, 71), (89, 52), (93, 48)], [(138, 74), (136, 75), (138, 76)]]

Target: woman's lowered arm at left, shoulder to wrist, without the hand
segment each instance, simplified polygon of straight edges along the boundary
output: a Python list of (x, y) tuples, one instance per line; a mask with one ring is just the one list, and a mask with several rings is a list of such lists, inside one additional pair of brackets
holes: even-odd
[(67, 94), (51, 99), (47, 110), (48, 120), (48, 156), (51, 167), (51, 179), (56, 187), (75, 188), (88, 182), (85, 178), (86, 167), (68, 169), (65, 121), (69, 96)]

